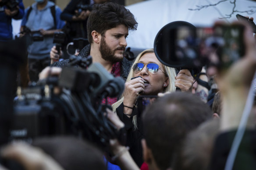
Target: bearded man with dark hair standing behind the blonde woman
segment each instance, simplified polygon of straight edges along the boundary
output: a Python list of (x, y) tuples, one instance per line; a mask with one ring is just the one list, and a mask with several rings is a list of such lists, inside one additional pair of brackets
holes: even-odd
[[(92, 62), (100, 62), (114, 76), (126, 80), (132, 62), (123, 57), (128, 30), (136, 30), (138, 23), (134, 15), (117, 3), (96, 4), (87, 21), (89, 45), (78, 56), (92, 56)], [(52, 66), (63, 67), (69, 60), (55, 62)], [(78, 67), (78, 66), (77, 66)], [(107, 104), (113, 104), (117, 98), (108, 98)]]

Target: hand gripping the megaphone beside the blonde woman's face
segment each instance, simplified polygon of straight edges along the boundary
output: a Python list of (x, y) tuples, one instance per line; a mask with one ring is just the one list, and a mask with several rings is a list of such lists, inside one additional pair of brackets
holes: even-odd
[(181, 69), (175, 79), (175, 86), (179, 87), (182, 92), (192, 90), (193, 76), (188, 69)]

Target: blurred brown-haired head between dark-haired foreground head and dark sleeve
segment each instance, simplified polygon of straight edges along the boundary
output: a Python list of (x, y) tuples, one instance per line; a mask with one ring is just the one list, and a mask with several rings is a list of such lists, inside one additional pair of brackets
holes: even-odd
[(219, 125), (220, 119), (213, 119), (189, 132), (172, 169), (208, 170)]

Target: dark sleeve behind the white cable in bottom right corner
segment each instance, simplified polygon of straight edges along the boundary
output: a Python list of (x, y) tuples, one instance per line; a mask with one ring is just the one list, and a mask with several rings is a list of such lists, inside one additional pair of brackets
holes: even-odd
[[(236, 130), (224, 132), (217, 136), (214, 143), (210, 170), (224, 170), (228, 154), (231, 150)], [(232, 170), (256, 169), (256, 131), (245, 130), (242, 141), (236, 153)]]

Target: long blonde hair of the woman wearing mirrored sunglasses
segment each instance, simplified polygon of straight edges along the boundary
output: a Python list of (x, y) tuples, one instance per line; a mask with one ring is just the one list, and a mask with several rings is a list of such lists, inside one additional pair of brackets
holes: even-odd
[[(132, 68), (133, 68), (134, 64), (139, 62), (139, 59), (147, 53), (154, 53), (154, 49), (146, 49), (143, 52), (139, 53), (139, 55), (136, 57), (133, 65), (132, 65)], [(130, 81), (131, 78), (133, 77), (132, 68), (130, 69), (130, 73), (127, 76), (126, 82)], [(164, 66), (164, 72), (165, 72), (166, 76), (169, 77), (169, 85), (164, 88), (162, 93), (167, 92), (167, 91), (169, 91), (169, 92), (175, 91), (176, 90), (176, 87), (175, 87), (176, 71), (175, 71), (175, 69), (168, 67), (168, 66)], [(120, 106), (120, 104), (123, 101), (124, 101), (124, 94), (121, 95), (121, 98), (116, 103), (112, 104), (112, 109), (114, 112), (116, 112), (117, 108)], [(133, 116), (132, 123), (134, 125), (134, 128), (136, 129), (137, 128), (137, 115)]]

